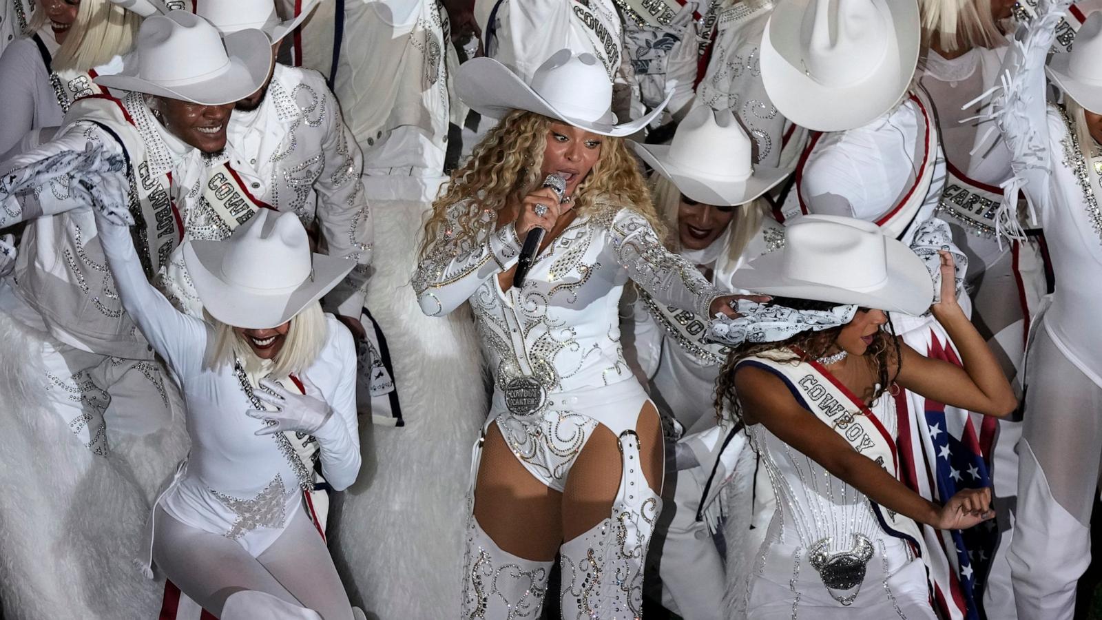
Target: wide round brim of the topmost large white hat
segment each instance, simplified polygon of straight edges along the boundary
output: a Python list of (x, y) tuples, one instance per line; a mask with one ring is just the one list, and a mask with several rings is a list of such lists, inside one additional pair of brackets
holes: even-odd
[(856, 84), (829, 87), (786, 57), (799, 55), (797, 34), (809, 1), (814, 0), (778, 3), (766, 24), (760, 63), (769, 99), (786, 118), (814, 131), (845, 131), (867, 125), (895, 107), (910, 87), (921, 44), (918, 3), (877, 1), (888, 12), (885, 17), (894, 26), (898, 53)]

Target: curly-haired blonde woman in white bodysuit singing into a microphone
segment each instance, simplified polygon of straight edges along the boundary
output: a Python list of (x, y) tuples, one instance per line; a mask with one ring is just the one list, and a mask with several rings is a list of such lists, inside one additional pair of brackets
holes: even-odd
[[(733, 298), (662, 247), (617, 138), (650, 118), (613, 125), (599, 62), (562, 50), (532, 84), (489, 58), (461, 68), (464, 100), (504, 120), (434, 205), (413, 282), (426, 314), (471, 303), (494, 376), (463, 611), (538, 618), (558, 552), (564, 618), (637, 618), (662, 439), (620, 352), (620, 291), (633, 279), (701, 317), (731, 312)], [(551, 174), (561, 197), (539, 188)], [(544, 250), (517, 286), (520, 239), (536, 227), (549, 231)]]

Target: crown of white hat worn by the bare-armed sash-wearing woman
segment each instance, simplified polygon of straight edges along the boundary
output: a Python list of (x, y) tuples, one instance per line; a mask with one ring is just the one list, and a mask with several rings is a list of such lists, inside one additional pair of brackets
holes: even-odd
[(788, 278), (854, 291), (887, 281), (887, 237), (872, 222), (814, 215), (792, 221), (785, 234)]

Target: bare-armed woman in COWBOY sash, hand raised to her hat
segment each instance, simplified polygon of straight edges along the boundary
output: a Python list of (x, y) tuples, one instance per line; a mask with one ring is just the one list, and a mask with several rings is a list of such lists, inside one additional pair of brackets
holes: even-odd
[[(1017, 406), (957, 304), (951, 255), (941, 257), (940, 300), (930, 306), (930, 274), (904, 244), (875, 224), (810, 215), (788, 225), (784, 250), (734, 275), (735, 286), (776, 296), (742, 301), (742, 318), (712, 327), (735, 346), (719, 398), (746, 424), (777, 496), (747, 587), (749, 618), (860, 610), (932, 619), (915, 522), (961, 530), (994, 515), (990, 489), (939, 506), (898, 480), (895, 400), (885, 392), (911, 389), (995, 417)], [(889, 310), (927, 309), (963, 367), (927, 359), (884, 329)]]

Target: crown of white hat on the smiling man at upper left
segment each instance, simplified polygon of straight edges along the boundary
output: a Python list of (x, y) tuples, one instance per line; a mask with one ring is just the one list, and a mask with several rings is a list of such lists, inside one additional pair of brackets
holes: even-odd
[(187, 11), (147, 18), (133, 54), (138, 76), (164, 86), (202, 82), (230, 66), (218, 31)]

